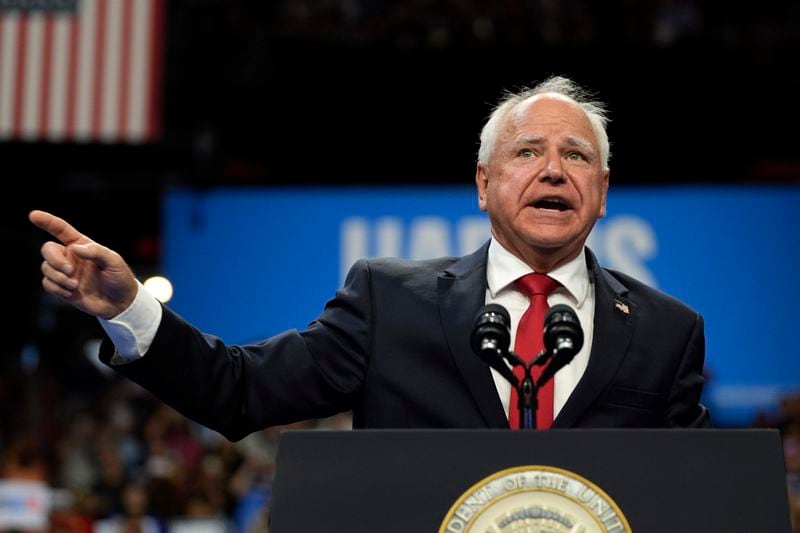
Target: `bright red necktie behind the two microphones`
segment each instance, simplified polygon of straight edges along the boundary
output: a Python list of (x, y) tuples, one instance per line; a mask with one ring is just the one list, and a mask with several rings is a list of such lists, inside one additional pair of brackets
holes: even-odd
[[(545, 274), (532, 273), (521, 277), (515, 282), (517, 288), (530, 298), (530, 305), (517, 326), (517, 338), (514, 341), (514, 351), (525, 362), (531, 361), (544, 348), (542, 330), (544, 317), (550, 306), (547, 297), (558, 287), (558, 282)], [(531, 370), (534, 382), (542, 373), (541, 366)], [(524, 371), (520, 367), (514, 368), (514, 374), (522, 381)], [(553, 424), (553, 382), (550, 379), (539, 389), (537, 399), (539, 408), (536, 411), (537, 429), (547, 429)], [(511, 401), (508, 406), (508, 423), (511, 429), (519, 429), (519, 406), (517, 405), (517, 391), (511, 387)]]

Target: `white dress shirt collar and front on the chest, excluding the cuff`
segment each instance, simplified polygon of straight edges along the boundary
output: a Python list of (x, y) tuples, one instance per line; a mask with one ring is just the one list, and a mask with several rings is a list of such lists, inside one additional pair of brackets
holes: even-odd
[[(511, 316), (512, 347), (517, 338), (517, 325), (530, 303), (530, 299), (517, 290), (514, 281), (531, 272), (533, 272), (531, 267), (503, 248), (494, 237), (492, 238), (486, 264), (486, 303), (500, 304), (508, 310)], [(553, 418), (555, 418), (567, 403), (589, 363), (594, 332), (594, 285), (589, 280), (584, 253), (578, 254), (578, 257), (548, 272), (547, 275), (561, 284), (561, 287), (548, 296), (547, 303), (550, 307), (566, 304), (575, 309), (583, 328), (583, 348), (575, 359), (556, 373), (554, 378)], [(503, 402), (503, 409), (508, 416), (511, 384), (495, 369), (492, 369), (492, 377), (497, 387), (497, 394)]]

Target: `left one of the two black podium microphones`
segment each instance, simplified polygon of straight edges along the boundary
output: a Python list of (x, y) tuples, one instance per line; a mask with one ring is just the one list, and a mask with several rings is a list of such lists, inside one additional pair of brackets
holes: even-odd
[(511, 344), (511, 317), (506, 308), (499, 304), (483, 306), (475, 317), (475, 325), (470, 335), (472, 350), (490, 367), (512, 384), (519, 383), (514, 372), (505, 364), (509, 357)]

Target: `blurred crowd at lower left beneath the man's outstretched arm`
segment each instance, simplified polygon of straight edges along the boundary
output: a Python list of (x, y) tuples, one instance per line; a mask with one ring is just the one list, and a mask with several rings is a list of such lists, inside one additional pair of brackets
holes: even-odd
[(83, 391), (42, 364), (18, 376), (24, 383), (8, 378), (0, 376), (4, 405), (15, 398), (0, 426), (2, 532), (267, 531), (280, 431), (352, 426), (344, 413), (231, 443), (113, 373), (94, 374)]

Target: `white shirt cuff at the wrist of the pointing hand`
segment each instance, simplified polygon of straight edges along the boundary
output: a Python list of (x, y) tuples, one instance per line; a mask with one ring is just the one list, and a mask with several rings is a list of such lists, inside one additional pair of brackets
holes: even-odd
[(161, 324), (161, 304), (144, 285), (137, 283), (136, 298), (127, 309), (109, 320), (98, 318), (116, 348), (112, 365), (124, 365), (144, 356)]

